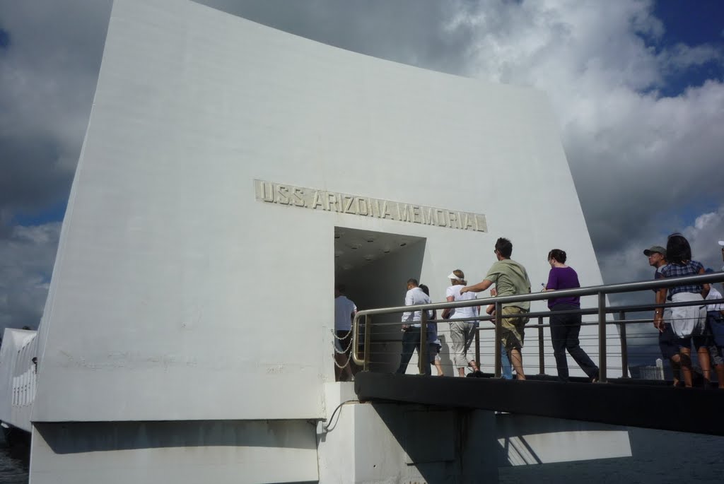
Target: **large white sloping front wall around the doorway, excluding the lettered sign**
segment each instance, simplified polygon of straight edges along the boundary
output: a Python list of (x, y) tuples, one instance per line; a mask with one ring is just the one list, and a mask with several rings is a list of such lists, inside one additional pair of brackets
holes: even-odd
[[(452, 268), (481, 279), (500, 236), (534, 288), (552, 247), (599, 284), (555, 124), (534, 90), (190, 1), (117, 0), (41, 323), (33, 420), (321, 417), (334, 226), (424, 237), (436, 300)], [(254, 179), (484, 213), (488, 232), (263, 203)]]

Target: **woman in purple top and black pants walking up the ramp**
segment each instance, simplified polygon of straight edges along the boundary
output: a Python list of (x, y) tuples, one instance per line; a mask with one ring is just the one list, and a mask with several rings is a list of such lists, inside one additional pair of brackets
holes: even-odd
[[(548, 263), (550, 263), (550, 273), (544, 291), (581, 287), (581, 284), (578, 284), (576, 271), (565, 265), (563, 250), (553, 249), (548, 252)], [(551, 312), (550, 337), (553, 343), (555, 365), (558, 368), (558, 379), (568, 381), (568, 361), (565, 357), (565, 350), (568, 349), (568, 353), (571, 354), (573, 360), (576, 360), (581, 370), (584, 370), (591, 381), (597, 381), (598, 367), (581, 348), (578, 341), (578, 333), (581, 331), (581, 313), (563, 313), (581, 309), (581, 298), (578, 296), (554, 297), (548, 300), (548, 308)]]

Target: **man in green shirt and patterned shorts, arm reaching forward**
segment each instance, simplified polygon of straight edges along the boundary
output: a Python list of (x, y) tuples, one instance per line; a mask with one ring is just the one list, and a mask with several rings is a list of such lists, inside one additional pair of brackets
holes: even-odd
[[(485, 279), (474, 286), (463, 287), (463, 289), (460, 289), (460, 294), (470, 291), (482, 292), (492, 284), (495, 284), (495, 288), (490, 290), (490, 294), (493, 296), (530, 294), (531, 281), (528, 279), (526, 268), (510, 259), (510, 255), (513, 254), (513, 244), (510, 240), (503, 237), (497, 239), (494, 252), (497, 262), (490, 267)], [(505, 352), (508, 353), (508, 358), (513, 363), (518, 380), (526, 379), (526, 375), (523, 373), (521, 349), (523, 349), (526, 323), (529, 320), (526, 314), (529, 313), (530, 309), (531, 303), (529, 301), (506, 302), (502, 305), (500, 335)]]

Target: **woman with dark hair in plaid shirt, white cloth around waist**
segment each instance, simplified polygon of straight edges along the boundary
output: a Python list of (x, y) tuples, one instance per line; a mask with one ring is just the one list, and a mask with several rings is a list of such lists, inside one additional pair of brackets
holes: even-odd
[[(666, 258), (668, 265), (661, 268), (664, 277), (696, 276), (704, 273), (704, 266), (691, 260), (691, 246), (681, 234), (671, 234), (666, 242)], [(691, 342), (699, 354), (699, 365), (702, 367), (704, 381), (710, 381), (711, 364), (707, 349), (706, 320), (707, 307), (704, 297), (709, 294), (709, 284), (687, 284), (659, 289), (656, 294), (657, 304), (666, 300), (672, 302), (701, 301), (701, 305), (673, 307), (671, 310), (671, 329), (678, 337), (679, 353), (681, 354), (681, 373), (684, 385), (691, 387)], [(667, 296), (668, 293), (668, 296)], [(663, 331), (663, 308), (658, 307), (654, 314), (654, 326)]]

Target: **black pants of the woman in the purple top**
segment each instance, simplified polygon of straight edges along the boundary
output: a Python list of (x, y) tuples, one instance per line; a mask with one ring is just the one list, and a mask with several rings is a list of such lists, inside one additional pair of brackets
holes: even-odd
[(598, 367), (588, 354), (579, 346), (578, 333), (581, 331), (580, 314), (557, 314), (558, 311), (578, 310), (580, 307), (561, 303), (550, 310), (550, 337), (553, 343), (555, 365), (558, 368), (558, 379), (568, 381), (568, 361), (565, 359), (565, 350), (576, 360), (578, 366), (589, 378), (598, 378)]

